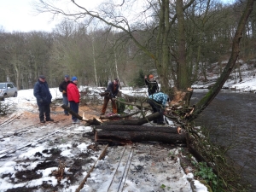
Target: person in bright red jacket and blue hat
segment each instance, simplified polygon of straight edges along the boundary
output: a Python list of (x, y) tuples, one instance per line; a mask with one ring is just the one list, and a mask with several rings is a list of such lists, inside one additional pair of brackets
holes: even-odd
[[(70, 103), (70, 108), (74, 113), (79, 113), (79, 102), (80, 102), (80, 94), (78, 89), (78, 78), (73, 77), (70, 84), (67, 85), (67, 100)], [(73, 124), (79, 123), (79, 119), (77, 119), (74, 115), (72, 115)]]

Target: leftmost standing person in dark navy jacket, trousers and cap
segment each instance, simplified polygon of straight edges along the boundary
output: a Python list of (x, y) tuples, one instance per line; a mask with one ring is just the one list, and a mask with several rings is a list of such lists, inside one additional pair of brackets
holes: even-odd
[[(34, 85), (34, 96), (37, 98), (38, 108), (39, 108), (39, 119), (41, 123), (46, 121), (54, 121), (50, 118), (50, 108), (51, 94), (49, 92), (49, 86), (45, 80), (44, 75), (39, 75), (38, 82)], [(45, 116), (45, 120), (44, 120)]]

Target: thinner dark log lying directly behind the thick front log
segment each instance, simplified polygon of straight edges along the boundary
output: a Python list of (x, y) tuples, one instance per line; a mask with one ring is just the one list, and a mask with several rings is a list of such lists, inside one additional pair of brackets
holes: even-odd
[(96, 125), (96, 131), (157, 131), (178, 133), (177, 126), (142, 126), (142, 125)]

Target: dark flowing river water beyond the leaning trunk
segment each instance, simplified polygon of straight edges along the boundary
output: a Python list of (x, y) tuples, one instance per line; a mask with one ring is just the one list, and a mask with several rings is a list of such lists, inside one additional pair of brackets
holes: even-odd
[[(195, 104), (207, 90), (194, 90)], [(221, 90), (196, 120), (207, 127), (213, 142), (222, 146), (232, 143), (230, 157), (244, 166), (242, 176), (256, 191), (256, 94)], [(236, 146), (235, 146), (236, 145)]]

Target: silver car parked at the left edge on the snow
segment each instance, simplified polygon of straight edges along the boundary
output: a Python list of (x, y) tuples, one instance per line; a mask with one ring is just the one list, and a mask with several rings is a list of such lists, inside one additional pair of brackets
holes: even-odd
[(4, 100), (9, 96), (18, 96), (18, 89), (12, 82), (0, 83), (0, 100)]

